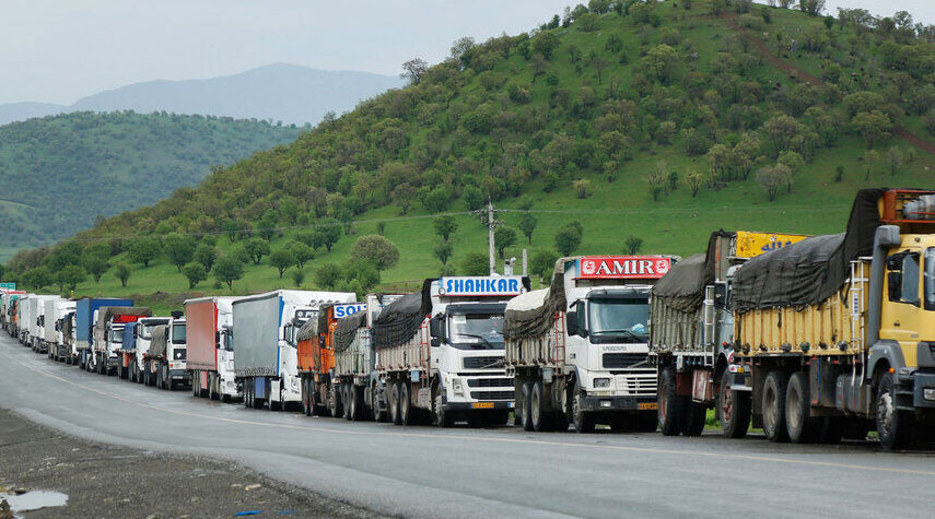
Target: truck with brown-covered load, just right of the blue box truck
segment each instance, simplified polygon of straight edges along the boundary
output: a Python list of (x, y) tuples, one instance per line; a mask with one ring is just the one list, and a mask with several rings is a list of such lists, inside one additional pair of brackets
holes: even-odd
[(120, 351), (124, 328), (141, 317), (151, 317), (152, 311), (138, 306), (102, 306), (95, 314), (91, 357), (94, 367), (101, 375), (122, 375), (124, 369), (129, 367), (129, 355)]

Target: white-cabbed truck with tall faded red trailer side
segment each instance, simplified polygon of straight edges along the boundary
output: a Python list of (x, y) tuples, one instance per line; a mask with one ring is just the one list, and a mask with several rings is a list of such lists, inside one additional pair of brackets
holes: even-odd
[(234, 374), (233, 303), (237, 297), (200, 297), (185, 302), (188, 376), (195, 397), (230, 402), (241, 398)]

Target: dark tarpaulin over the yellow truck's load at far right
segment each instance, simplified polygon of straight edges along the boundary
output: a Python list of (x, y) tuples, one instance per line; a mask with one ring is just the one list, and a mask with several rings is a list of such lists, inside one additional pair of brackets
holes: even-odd
[(844, 234), (816, 236), (748, 261), (734, 275), (734, 308), (817, 305), (850, 276), (851, 261), (870, 256), (886, 188), (857, 191)]

